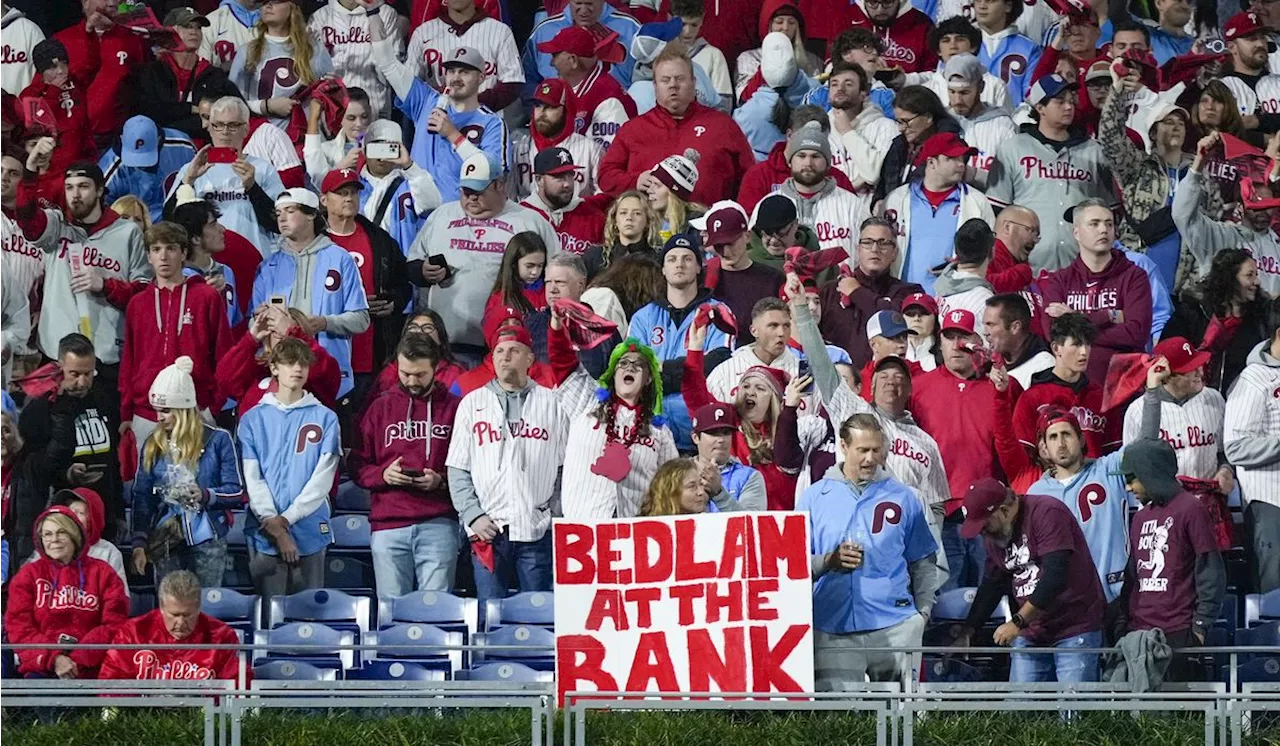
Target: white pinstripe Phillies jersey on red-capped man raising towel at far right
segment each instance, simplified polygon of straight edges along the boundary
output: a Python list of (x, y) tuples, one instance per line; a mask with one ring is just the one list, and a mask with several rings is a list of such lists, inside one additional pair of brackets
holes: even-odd
[[(1217, 389), (1204, 389), (1179, 406), (1160, 404), (1160, 438), (1178, 456), (1178, 473), (1196, 479), (1213, 479), (1217, 454), (1222, 450), (1222, 418), (1226, 402)], [(1124, 413), (1125, 445), (1138, 439), (1142, 430), (1142, 397)]]

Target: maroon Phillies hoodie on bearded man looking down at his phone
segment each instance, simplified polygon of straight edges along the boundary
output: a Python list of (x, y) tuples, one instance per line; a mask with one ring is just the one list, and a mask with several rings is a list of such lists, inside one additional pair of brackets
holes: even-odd
[[(356, 484), (371, 493), (369, 523), (374, 531), (403, 528), (443, 516), (457, 517), (449, 499), (449, 470), (444, 459), (449, 454), (460, 401), (440, 384), (433, 384), (421, 398), (396, 385), (365, 406), (351, 462)], [(429, 468), (445, 480), (431, 491), (389, 486), (383, 480), (383, 471), (397, 458), (403, 459), (403, 470)]]

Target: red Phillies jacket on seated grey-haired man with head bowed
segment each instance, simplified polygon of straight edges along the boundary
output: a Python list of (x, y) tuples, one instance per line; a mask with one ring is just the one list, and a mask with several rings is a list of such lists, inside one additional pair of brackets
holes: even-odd
[[(200, 614), (196, 628), (182, 640), (165, 627), (164, 614), (152, 609), (115, 627), (99, 627), (86, 639), (102, 645), (239, 645), (239, 636), (225, 623)], [(99, 668), (99, 678), (132, 681), (234, 681), (239, 662), (234, 650), (78, 650), (77, 664)], [(247, 673), (247, 672), (246, 672)]]

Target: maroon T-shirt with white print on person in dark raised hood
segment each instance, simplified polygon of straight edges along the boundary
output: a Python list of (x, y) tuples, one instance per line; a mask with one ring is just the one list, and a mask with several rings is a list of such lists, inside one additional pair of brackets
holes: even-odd
[(1196, 558), (1217, 552), (1213, 521), (1188, 493), (1165, 505), (1147, 503), (1129, 522), (1129, 628), (1181, 632), (1196, 618)]

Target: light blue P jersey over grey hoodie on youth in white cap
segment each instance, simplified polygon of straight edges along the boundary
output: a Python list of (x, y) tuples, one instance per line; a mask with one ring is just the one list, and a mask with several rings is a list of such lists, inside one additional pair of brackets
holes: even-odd
[(323, 233), (296, 253), (282, 238), (280, 251), (257, 266), (252, 307), (262, 306), (271, 296), (284, 296), (291, 308), (324, 317), (325, 329), (316, 339), (338, 361), (338, 397), (346, 395), (355, 385), (351, 338), (370, 325), (369, 298), (356, 261)]

